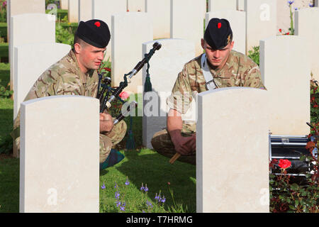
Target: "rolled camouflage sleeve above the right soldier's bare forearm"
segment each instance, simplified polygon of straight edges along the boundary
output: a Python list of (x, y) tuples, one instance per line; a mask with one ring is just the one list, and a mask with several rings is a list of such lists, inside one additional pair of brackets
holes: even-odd
[(172, 89), (172, 94), (167, 98), (166, 102), (170, 109), (175, 109), (181, 114), (186, 114), (191, 106), (192, 99), (189, 72), (186, 66), (184, 66), (183, 70), (179, 72)]

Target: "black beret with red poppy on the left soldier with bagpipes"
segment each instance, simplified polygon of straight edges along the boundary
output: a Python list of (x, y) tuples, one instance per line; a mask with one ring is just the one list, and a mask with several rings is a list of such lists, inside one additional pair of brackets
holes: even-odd
[(75, 33), (84, 42), (96, 48), (106, 48), (111, 38), (108, 25), (101, 20), (80, 21)]

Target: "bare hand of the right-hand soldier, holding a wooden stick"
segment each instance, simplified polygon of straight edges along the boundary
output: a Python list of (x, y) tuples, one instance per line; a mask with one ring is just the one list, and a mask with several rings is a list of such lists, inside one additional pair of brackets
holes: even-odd
[(172, 139), (172, 142), (174, 143), (177, 153), (180, 153), (181, 155), (191, 155), (196, 152), (196, 134), (188, 137), (182, 135), (175, 136), (175, 138)]

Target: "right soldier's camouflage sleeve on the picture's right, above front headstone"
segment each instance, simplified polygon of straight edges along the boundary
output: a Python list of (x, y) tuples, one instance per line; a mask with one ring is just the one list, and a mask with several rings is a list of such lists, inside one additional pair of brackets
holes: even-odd
[(243, 86), (267, 90), (266, 87), (264, 87), (264, 84), (262, 83), (262, 74), (260, 74), (258, 65), (255, 62), (252, 62), (252, 60), (250, 61), (250, 67), (247, 67), (247, 70), (245, 72), (246, 79)]

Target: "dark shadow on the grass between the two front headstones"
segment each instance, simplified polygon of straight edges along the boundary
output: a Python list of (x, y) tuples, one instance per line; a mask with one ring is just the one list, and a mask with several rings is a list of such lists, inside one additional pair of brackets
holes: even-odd
[[(144, 186), (147, 184), (150, 190), (148, 194), (153, 200), (155, 194), (161, 191), (167, 198), (166, 206), (172, 207), (174, 202), (169, 192), (170, 187), (176, 204), (182, 204), (184, 209), (187, 206), (186, 212), (196, 212), (196, 166), (179, 161), (172, 165), (169, 158), (148, 149), (128, 150), (123, 153), (123, 163), (115, 167), (127, 176), (138, 190), (142, 183)], [(101, 171), (101, 175), (105, 175), (107, 171)]]

